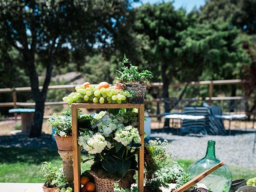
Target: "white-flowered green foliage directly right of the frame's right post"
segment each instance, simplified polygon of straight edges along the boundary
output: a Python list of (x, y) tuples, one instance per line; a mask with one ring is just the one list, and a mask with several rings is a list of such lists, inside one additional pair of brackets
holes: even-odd
[(144, 167), (147, 174), (155, 174), (168, 165), (168, 160), (172, 156), (170, 152), (166, 153), (169, 146), (167, 140), (161, 142), (159, 138), (149, 140), (145, 144)]

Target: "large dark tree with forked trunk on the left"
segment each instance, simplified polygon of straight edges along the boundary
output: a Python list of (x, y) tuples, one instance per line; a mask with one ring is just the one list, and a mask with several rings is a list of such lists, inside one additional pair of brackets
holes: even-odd
[[(68, 50), (87, 54), (95, 45), (110, 44), (116, 21), (129, 12), (130, 0), (3, 0), (0, 1), (0, 41), (18, 52), (30, 78), (35, 106), (31, 137), (41, 134), (44, 102), (52, 68)], [(1, 45), (2, 46), (2, 45)], [(83, 52), (80, 52), (82, 50)], [(8, 53), (6, 53), (8, 54)], [(38, 58), (36, 58), (38, 56)], [(39, 90), (37, 59), (45, 68)]]

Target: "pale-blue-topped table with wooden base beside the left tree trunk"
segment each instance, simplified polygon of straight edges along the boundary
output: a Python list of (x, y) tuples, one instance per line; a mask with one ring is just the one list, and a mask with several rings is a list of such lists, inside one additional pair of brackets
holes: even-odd
[(25, 134), (30, 132), (30, 129), (34, 123), (35, 109), (30, 109), (30, 108), (10, 109), (9, 113), (20, 113), (20, 115), (21, 115), (21, 132), (25, 133)]

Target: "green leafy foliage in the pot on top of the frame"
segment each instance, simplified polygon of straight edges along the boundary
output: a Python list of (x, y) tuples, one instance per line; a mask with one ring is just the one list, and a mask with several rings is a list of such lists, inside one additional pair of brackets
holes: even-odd
[(142, 72), (138, 72), (138, 66), (133, 66), (130, 64), (130, 67), (125, 66), (124, 64), (128, 63), (128, 58), (124, 54), (124, 58), (121, 64), (122, 71), (117, 71), (117, 77), (119, 83), (122, 84), (146, 84), (150, 86), (149, 79), (153, 78), (152, 72), (148, 70), (143, 70)]

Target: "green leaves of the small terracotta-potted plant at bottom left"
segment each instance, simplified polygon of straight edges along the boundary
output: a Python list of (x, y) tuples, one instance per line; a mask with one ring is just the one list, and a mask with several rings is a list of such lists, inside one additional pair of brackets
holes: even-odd
[(51, 162), (43, 162), (41, 167), (44, 179), (45, 179), (45, 186), (48, 188), (56, 187), (56, 179), (57, 179), (57, 172), (58, 168), (53, 167)]

